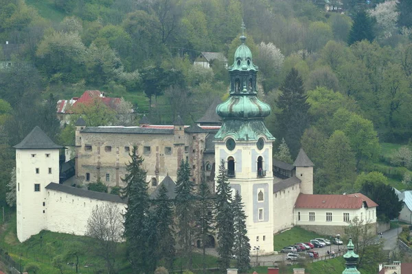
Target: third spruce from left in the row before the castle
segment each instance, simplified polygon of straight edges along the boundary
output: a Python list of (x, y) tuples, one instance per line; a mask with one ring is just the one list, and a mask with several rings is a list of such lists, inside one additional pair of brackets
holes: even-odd
[(176, 181), (176, 219), (183, 256), (192, 269), (192, 239), (194, 235), (194, 182), (190, 180), (189, 163), (181, 162)]

